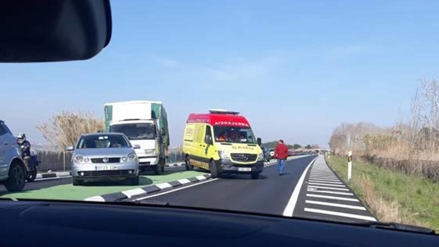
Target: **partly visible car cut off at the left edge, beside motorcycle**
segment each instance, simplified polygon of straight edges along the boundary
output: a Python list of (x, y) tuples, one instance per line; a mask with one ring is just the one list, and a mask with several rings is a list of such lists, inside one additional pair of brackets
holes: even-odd
[(21, 191), (25, 184), (24, 163), (16, 143), (15, 136), (0, 120), (0, 184), (11, 192)]

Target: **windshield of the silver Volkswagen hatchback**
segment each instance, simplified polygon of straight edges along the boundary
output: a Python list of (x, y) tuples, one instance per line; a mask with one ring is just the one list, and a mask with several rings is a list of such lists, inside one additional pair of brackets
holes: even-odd
[(85, 148), (129, 148), (130, 143), (122, 135), (87, 135), (79, 139), (77, 149)]

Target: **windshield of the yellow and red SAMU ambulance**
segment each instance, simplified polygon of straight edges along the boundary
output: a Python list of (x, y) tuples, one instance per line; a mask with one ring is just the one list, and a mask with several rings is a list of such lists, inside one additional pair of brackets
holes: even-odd
[(217, 142), (256, 144), (250, 128), (214, 126), (214, 134)]

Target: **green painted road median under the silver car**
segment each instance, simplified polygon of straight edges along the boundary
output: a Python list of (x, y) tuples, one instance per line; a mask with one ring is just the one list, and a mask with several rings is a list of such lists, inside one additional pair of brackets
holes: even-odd
[[(163, 175), (146, 175), (140, 177), (140, 183), (137, 186), (127, 186), (123, 182), (118, 183), (93, 183), (84, 186), (73, 186), (70, 184), (57, 185), (44, 189), (28, 190), (19, 193), (10, 193), (2, 195), (2, 198), (15, 199), (52, 199), (52, 200), (84, 200), (88, 197), (99, 196), (114, 192), (121, 192), (135, 188), (145, 187), (153, 184), (172, 182), (179, 179), (191, 178), (204, 175), (205, 172), (199, 171), (167, 171)], [(38, 182), (33, 182), (38, 183)]]

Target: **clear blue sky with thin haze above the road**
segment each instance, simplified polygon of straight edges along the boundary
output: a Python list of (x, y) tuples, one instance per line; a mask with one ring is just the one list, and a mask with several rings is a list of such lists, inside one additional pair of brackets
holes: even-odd
[(0, 64), (0, 119), (43, 142), (61, 111), (162, 100), (171, 144), (191, 112), (240, 111), (264, 141), (327, 146), (341, 122), (389, 126), (439, 78), (438, 1), (112, 0), (110, 45), (87, 61)]

